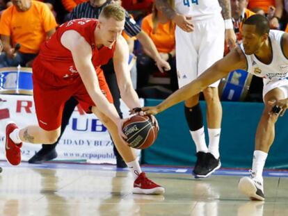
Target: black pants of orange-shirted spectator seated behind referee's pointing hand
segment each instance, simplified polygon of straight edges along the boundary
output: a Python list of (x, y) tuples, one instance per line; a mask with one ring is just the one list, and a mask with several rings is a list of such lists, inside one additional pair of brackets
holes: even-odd
[[(177, 79), (177, 69), (176, 69), (176, 58), (173, 57), (168, 60), (170, 64), (170, 71), (168, 74), (170, 75), (170, 90), (175, 92), (178, 90), (178, 79)], [(157, 65), (155, 65), (155, 61), (146, 56), (145, 54), (141, 54), (137, 56), (137, 89), (147, 87), (149, 76), (152, 72), (159, 70)]]

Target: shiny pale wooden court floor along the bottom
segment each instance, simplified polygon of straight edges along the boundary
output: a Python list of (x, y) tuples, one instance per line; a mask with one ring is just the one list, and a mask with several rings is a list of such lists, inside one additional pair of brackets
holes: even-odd
[[(239, 174), (217, 174), (195, 180), (189, 169), (144, 167), (166, 188), (166, 194), (131, 194), (127, 169), (109, 165), (0, 162), (0, 215), (288, 215), (288, 174), (265, 177), (265, 201), (239, 194)], [(226, 172), (228, 173), (228, 172)], [(234, 175), (235, 174), (235, 175)]]

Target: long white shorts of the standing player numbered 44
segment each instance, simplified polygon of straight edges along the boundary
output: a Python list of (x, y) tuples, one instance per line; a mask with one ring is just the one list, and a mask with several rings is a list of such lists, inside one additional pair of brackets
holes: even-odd
[[(192, 33), (186, 33), (178, 26), (175, 30), (179, 88), (193, 81), (217, 60), (223, 58), (225, 28), (221, 14), (195, 21), (193, 25)], [(217, 87), (218, 83), (219, 81), (209, 86)]]

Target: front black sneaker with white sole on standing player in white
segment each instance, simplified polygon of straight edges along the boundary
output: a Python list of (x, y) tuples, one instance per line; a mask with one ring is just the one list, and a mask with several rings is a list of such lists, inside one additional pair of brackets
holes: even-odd
[(205, 163), (195, 173), (195, 178), (207, 178), (221, 167), (220, 158), (216, 159), (213, 154), (206, 153)]

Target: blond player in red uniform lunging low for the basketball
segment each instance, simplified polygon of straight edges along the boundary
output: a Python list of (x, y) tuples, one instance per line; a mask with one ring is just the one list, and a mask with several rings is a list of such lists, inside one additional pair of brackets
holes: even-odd
[(39, 126), (18, 129), (6, 126), (6, 158), (21, 161), (22, 142), (52, 144), (61, 131), (65, 101), (75, 97), (87, 113), (95, 113), (108, 128), (118, 151), (134, 176), (134, 193), (162, 194), (164, 188), (141, 172), (130, 147), (123, 141), (122, 124), (106, 84), (101, 65), (113, 58), (123, 101), (131, 109), (140, 106), (129, 77), (129, 49), (121, 33), (125, 10), (106, 6), (97, 19), (74, 19), (62, 24), (43, 44), (33, 63), (33, 97)]

